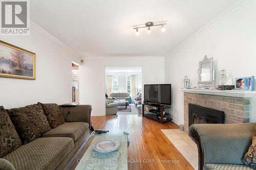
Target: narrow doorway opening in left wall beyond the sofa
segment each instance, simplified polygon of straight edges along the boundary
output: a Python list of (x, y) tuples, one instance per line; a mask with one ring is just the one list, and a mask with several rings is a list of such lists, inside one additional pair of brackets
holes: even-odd
[(79, 102), (79, 65), (72, 62), (72, 102)]

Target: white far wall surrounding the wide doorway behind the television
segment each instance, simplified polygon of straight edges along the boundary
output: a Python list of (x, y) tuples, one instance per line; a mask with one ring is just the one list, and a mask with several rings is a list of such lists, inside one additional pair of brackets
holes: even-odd
[(92, 105), (92, 115), (105, 115), (105, 66), (141, 66), (142, 88), (148, 83), (164, 83), (163, 57), (84, 58), (84, 63), (79, 67), (79, 96), (81, 104)]

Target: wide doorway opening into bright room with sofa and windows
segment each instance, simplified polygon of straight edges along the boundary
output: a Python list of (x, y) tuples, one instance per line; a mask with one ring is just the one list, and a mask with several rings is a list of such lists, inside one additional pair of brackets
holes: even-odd
[(141, 66), (105, 66), (106, 115), (141, 114), (141, 72)]

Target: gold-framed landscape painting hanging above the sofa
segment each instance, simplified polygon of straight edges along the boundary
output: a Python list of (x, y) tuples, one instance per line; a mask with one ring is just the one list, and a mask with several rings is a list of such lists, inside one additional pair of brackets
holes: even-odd
[(35, 80), (35, 53), (0, 41), (0, 77)]

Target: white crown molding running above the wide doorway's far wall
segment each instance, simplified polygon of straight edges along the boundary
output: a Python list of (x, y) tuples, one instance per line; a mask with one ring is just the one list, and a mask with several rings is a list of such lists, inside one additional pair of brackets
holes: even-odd
[(90, 60), (116, 60), (116, 59), (122, 59), (122, 60), (164, 60), (163, 56), (152, 56), (152, 57), (143, 57), (143, 56), (137, 56), (137, 57), (103, 57), (103, 56), (95, 56), (95, 57), (82, 57), (82, 59), (90, 59)]

